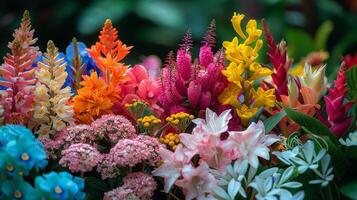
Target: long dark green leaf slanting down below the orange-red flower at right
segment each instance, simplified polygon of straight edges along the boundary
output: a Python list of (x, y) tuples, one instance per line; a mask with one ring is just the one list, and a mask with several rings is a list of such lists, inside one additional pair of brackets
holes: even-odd
[(300, 126), (305, 127), (313, 134), (317, 135), (325, 135), (331, 139), (331, 141), (335, 145), (339, 145), (337, 137), (331, 133), (330, 129), (328, 129), (324, 124), (322, 124), (319, 120), (305, 115), (304, 113), (298, 112), (289, 107), (283, 106), (284, 111), (288, 115), (288, 117), (294, 122), (298, 123)]

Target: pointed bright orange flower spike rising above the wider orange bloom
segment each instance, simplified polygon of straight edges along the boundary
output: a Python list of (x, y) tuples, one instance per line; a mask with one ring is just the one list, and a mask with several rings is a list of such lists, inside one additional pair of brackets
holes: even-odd
[(113, 71), (127, 69), (120, 61), (129, 54), (131, 48), (132, 46), (126, 46), (118, 39), (117, 29), (113, 27), (111, 20), (107, 19), (100, 31), (99, 42), (92, 45), (88, 51), (103, 72), (105, 82), (108, 83)]

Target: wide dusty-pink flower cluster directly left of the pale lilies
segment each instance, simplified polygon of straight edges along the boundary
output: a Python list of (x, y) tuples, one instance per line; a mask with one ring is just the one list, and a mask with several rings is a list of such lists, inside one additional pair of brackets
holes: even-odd
[(151, 166), (161, 161), (159, 156), (160, 142), (157, 138), (139, 135), (133, 139), (122, 139), (104, 155), (103, 162), (98, 166), (102, 179), (113, 178), (118, 174), (118, 168), (135, 165), (146, 161)]

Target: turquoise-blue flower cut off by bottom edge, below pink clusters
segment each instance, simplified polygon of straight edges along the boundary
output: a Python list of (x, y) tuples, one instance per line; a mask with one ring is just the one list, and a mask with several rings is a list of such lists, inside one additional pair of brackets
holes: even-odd
[(85, 194), (84, 180), (73, 177), (67, 172), (50, 172), (40, 177), (36, 177), (35, 186), (46, 196), (55, 200), (81, 200)]

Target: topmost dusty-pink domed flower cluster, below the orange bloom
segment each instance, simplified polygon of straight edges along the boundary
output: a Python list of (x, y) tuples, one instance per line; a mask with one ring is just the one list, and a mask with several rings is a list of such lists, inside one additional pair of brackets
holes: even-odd
[(116, 144), (120, 139), (135, 136), (135, 127), (131, 122), (121, 115), (103, 115), (95, 120), (92, 125), (93, 133), (100, 139), (107, 139)]

